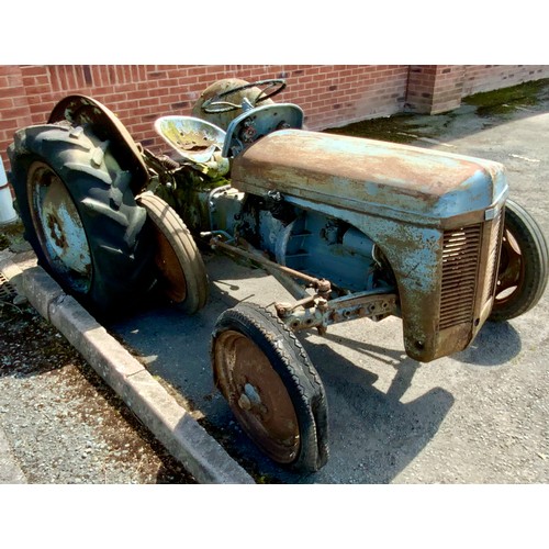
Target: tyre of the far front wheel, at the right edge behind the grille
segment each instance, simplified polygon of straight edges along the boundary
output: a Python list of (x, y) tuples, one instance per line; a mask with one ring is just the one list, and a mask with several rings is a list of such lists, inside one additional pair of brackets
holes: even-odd
[(547, 242), (534, 217), (513, 200), (505, 205), (504, 242), (502, 247), (498, 281), (508, 269), (506, 247), (511, 246), (509, 234), (519, 249), (519, 267), (516, 289), (508, 295), (494, 301), (490, 321), (504, 322), (533, 309), (545, 292), (548, 274), (549, 251)]

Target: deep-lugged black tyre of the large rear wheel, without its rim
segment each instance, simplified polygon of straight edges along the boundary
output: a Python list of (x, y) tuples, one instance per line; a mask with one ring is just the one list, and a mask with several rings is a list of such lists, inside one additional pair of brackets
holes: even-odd
[[(30, 126), (15, 133), (8, 154), (25, 238), (38, 265), (97, 316), (120, 316), (132, 309), (154, 282), (153, 239), (146, 211), (136, 204), (130, 187), (132, 175), (120, 169), (109, 142), (66, 123)], [(78, 288), (72, 273), (59, 269), (54, 254), (44, 249), (44, 229), (31, 195), (33, 184), (38, 184), (29, 180), (38, 165), (60, 180), (55, 184), (71, 200), (86, 234), (91, 265), (85, 288)]]

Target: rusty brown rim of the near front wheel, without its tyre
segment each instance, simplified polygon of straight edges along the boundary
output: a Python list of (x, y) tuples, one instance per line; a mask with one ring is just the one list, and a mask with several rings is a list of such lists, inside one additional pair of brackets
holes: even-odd
[(246, 434), (274, 461), (294, 461), (300, 449), (298, 415), (261, 349), (239, 332), (223, 332), (215, 341), (214, 368), (220, 389)]

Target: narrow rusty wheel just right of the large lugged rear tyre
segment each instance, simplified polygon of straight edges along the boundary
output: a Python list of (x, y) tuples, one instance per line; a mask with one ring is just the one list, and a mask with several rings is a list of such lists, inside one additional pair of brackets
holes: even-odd
[(157, 290), (184, 313), (197, 313), (208, 302), (209, 281), (191, 233), (177, 212), (160, 197), (145, 192), (136, 201), (146, 210), (157, 242)]

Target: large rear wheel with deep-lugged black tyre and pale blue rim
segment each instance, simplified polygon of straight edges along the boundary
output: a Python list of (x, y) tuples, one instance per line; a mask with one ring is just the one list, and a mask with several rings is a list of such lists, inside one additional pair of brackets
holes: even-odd
[(99, 316), (125, 311), (154, 281), (152, 235), (120, 168), (81, 126), (48, 124), (8, 148), (25, 238), (41, 265)]

